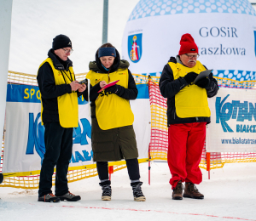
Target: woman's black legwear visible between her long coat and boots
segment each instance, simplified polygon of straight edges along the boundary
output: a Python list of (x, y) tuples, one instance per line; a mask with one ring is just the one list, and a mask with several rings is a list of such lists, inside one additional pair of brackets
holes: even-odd
[[(129, 159), (125, 161), (126, 161), (129, 178), (131, 180), (137, 180), (141, 178), (137, 158)], [(96, 166), (97, 166), (99, 178), (101, 180), (108, 179), (108, 161), (97, 161)]]

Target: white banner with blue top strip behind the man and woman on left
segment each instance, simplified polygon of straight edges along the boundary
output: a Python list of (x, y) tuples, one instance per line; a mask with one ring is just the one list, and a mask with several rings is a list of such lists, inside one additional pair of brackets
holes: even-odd
[[(139, 159), (148, 158), (150, 140), (149, 100), (131, 101), (135, 116)], [(147, 111), (148, 110), (148, 111)], [(41, 125), (38, 87), (8, 85), (3, 173), (7, 176), (38, 174), (44, 157), (44, 126)], [(92, 161), (90, 105), (79, 98), (79, 127), (73, 130), (73, 155), (69, 169), (89, 167)]]

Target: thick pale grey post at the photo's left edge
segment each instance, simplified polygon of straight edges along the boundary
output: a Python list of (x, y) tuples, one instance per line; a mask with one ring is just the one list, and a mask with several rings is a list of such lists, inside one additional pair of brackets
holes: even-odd
[[(13, 0), (0, 0), (0, 138), (3, 136), (3, 126), (6, 106), (6, 90), (9, 69), (9, 44), (11, 34)], [(2, 142), (1, 142), (2, 143)]]

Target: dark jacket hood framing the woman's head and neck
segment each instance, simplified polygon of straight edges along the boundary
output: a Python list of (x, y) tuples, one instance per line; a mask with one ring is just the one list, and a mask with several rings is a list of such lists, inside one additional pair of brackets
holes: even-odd
[[(126, 69), (129, 67), (129, 62), (125, 59), (120, 59), (120, 55), (117, 49), (115, 49), (116, 52), (116, 57), (113, 60), (113, 65), (110, 67), (109, 73), (112, 73), (114, 71), (117, 71), (119, 68), (121, 69)], [(96, 60), (95, 61), (90, 61), (89, 63), (89, 69), (91, 71), (95, 71), (97, 73), (108, 73), (107, 70), (105, 70), (102, 67), (102, 62), (101, 59), (99, 59), (98, 54), (96, 53), (95, 55)]]

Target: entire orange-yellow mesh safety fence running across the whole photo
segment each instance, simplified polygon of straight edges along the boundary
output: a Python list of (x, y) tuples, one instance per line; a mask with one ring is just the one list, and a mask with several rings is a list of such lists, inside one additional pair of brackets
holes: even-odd
[[(76, 79), (81, 81), (84, 79), (86, 73), (76, 75)], [(168, 148), (168, 128), (166, 117), (166, 99), (163, 98), (159, 90), (160, 77), (149, 77), (145, 75), (132, 74), (137, 84), (148, 84), (149, 88), (149, 102), (151, 106), (151, 139), (149, 144), (150, 161), (167, 160), (167, 148)], [(224, 79), (215, 77), (218, 80), (220, 87), (229, 88), (255, 88), (256, 81), (238, 82), (235, 80)], [(26, 84), (37, 86), (37, 79), (35, 75), (9, 71), (8, 82), (13, 84)], [(4, 135), (4, 134), (3, 134)], [(4, 139), (3, 139), (4, 140)], [(1, 162), (0, 173), (2, 173), (4, 159), (4, 144), (2, 144), (1, 150)], [(147, 160), (148, 161), (148, 160)], [(256, 161), (256, 153), (211, 153), (210, 156), (210, 168), (224, 167), (224, 163), (228, 162), (247, 162)], [(140, 161), (143, 162), (143, 161)], [(114, 164), (113, 172), (126, 167), (125, 161)], [(207, 169), (207, 153), (204, 148), (201, 157), (201, 168)], [(111, 173), (113, 173), (111, 171)], [(68, 171), (68, 182), (78, 181), (83, 178), (90, 178), (97, 175), (96, 164), (90, 165), (84, 169)], [(21, 177), (5, 177), (3, 184), (0, 186), (15, 187), (23, 189), (38, 189), (39, 174), (31, 176)], [(53, 175), (53, 183), (55, 183), (55, 173)]]

